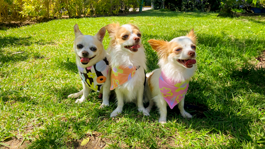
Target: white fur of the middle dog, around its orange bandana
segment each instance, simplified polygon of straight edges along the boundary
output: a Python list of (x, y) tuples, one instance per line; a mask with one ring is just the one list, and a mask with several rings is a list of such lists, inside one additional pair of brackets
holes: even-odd
[(144, 92), (144, 81), (146, 69), (146, 56), (145, 49), (141, 44), (141, 39), (139, 41), (140, 48), (137, 52), (132, 52), (124, 46), (134, 45), (133, 38), (137, 35), (132, 32), (131, 25), (126, 24), (122, 27), (126, 28), (131, 32), (128, 39), (122, 43), (116, 42), (115, 45), (109, 46), (107, 51), (111, 57), (110, 65), (111, 67), (118, 66), (140, 66), (140, 68), (135, 72), (135, 75), (125, 82), (124, 84), (115, 88), (117, 95), (117, 108), (110, 114), (110, 117), (115, 117), (122, 112), (124, 103), (134, 102), (138, 106), (138, 111), (143, 112), (144, 115), (149, 115), (149, 112), (143, 106), (143, 92)]

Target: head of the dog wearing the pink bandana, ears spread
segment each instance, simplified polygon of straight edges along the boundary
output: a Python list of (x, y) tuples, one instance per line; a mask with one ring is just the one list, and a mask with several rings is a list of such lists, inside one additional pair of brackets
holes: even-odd
[(192, 68), (196, 64), (196, 36), (193, 29), (186, 36), (174, 38), (170, 42), (154, 39), (148, 42), (158, 52), (161, 61), (184, 68)]

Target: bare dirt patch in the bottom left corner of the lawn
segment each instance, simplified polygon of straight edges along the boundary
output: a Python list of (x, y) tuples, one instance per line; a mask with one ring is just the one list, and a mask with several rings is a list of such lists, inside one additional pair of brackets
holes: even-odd
[(23, 139), (8, 138), (2, 142), (4, 145), (1, 145), (0, 149), (27, 149), (30, 145), (30, 141), (23, 141)]

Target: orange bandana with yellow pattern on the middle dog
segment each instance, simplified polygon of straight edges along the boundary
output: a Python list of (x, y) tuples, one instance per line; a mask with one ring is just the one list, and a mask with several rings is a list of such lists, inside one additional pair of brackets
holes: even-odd
[[(140, 66), (139, 66), (140, 67)], [(111, 86), (110, 90), (115, 89), (116, 87), (124, 84), (130, 80), (139, 67), (113, 67), (111, 70)]]

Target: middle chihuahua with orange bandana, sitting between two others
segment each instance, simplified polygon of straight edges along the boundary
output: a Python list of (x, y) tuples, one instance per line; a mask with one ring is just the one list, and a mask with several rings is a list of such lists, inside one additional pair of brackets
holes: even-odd
[(112, 68), (110, 89), (115, 89), (117, 96), (117, 108), (110, 117), (122, 112), (124, 102), (136, 103), (138, 111), (149, 115), (143, 106), (146, 56), (139, 28), (131, 24), (119, 26), (119, 23), (105, 28), (111, 38), (107, 49)]

